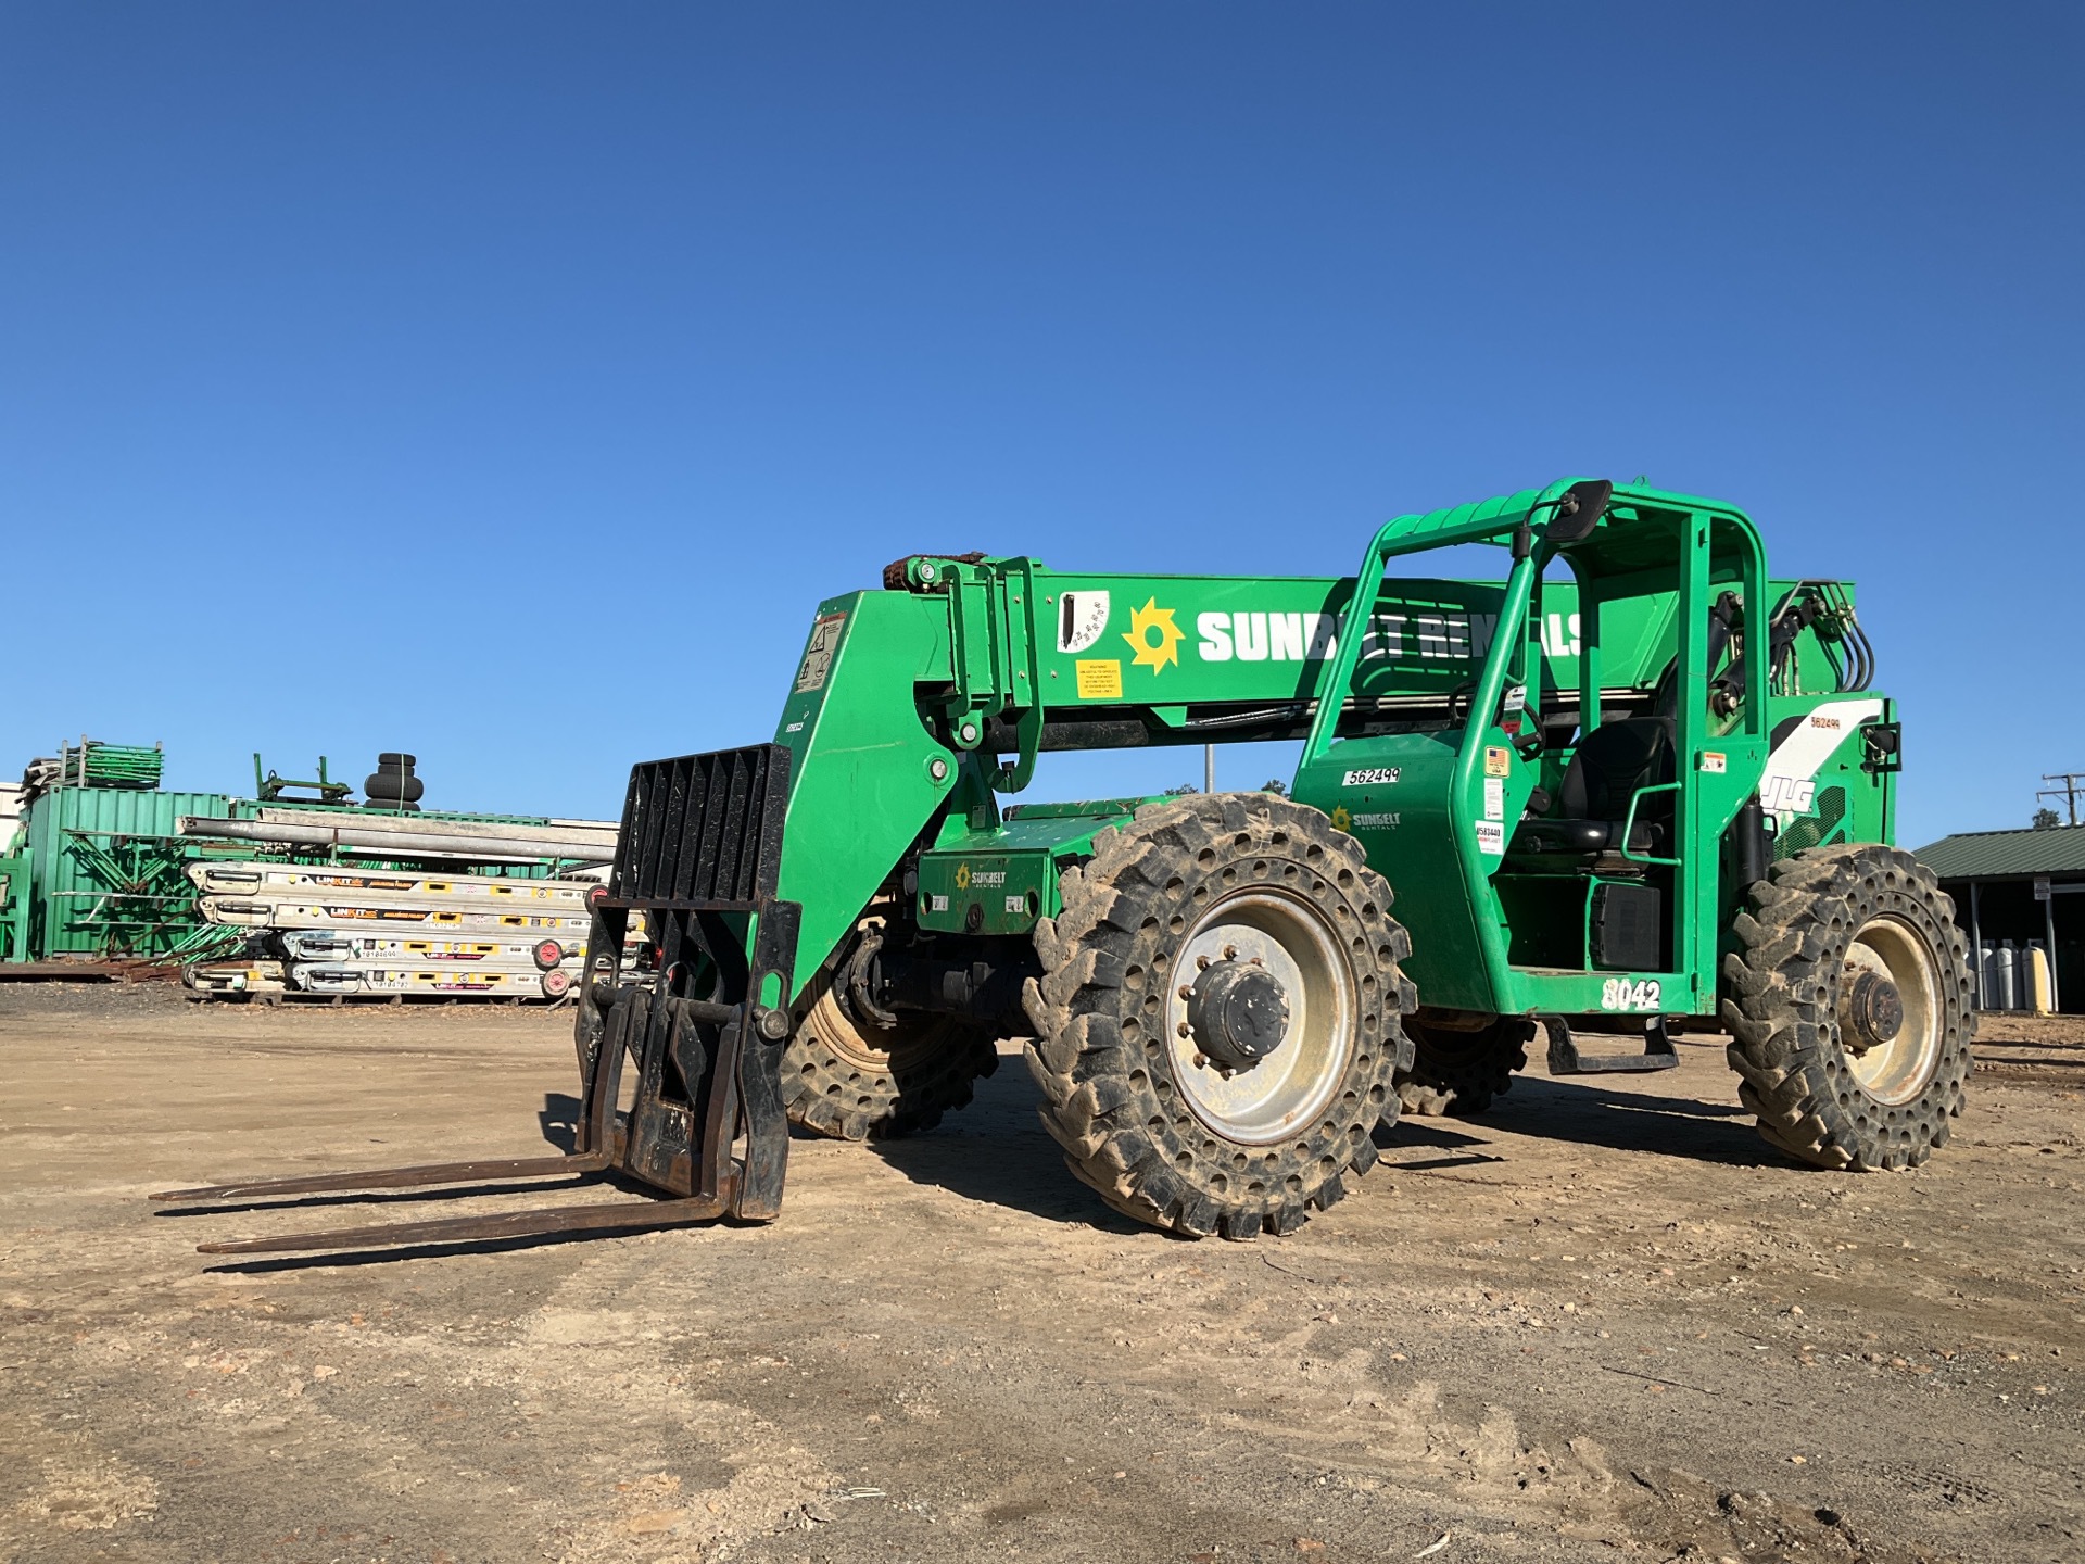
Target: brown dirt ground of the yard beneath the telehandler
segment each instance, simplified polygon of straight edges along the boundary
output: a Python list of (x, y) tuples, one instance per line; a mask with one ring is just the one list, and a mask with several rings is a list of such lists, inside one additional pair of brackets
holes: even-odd
[(540, 1153), (567, 1020), (6, 988), (0, 1558), (2079, 1560), (2085, 1036), (1987, 1036), (1916, 1174), (1787, 1166), (1693, 1038), (1186, 1243), (1009, 1057), (917, 1141), (796, 1141), (774, 1226), (213, 1264), (427, 1207), (148, 1191)]

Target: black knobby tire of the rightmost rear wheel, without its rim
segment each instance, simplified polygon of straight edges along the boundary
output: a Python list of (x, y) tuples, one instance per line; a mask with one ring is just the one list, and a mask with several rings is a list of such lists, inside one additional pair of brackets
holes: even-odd
[[(1856, 936), (1885, 924), (1931, 963), (1931, 1064), (1883, 1101), (1841, 1045), (1839, 1001)], [(1868, 1172), (1916, 1168), (1964, 1105), (1977, 1016), (1968, 949), (1933, 872), (1895, 847), (1818, 847), (1774, 863), (1733, 924), (1722, 1024), (1737, 1095), (1760, 1134), (1797, 1162)]]

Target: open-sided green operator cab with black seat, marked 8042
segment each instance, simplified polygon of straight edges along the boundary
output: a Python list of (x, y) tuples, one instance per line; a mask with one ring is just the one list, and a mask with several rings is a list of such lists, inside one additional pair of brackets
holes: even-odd
[(1766, 744), (1764, 667), (1743, 657), (1758, 532), (1708, 500), (1557, 484), (1389, 523), (1357, 592), (1397, 611), (1405, 557), (1464, 542), (1514, 569), (1445, 726), (1357, 728), (1355, 707), (1426, 674), (1357, 649), (1297, 797), (1351, 822), (1391, 880), (1428, 1009), (1712, 1009), (1724, 836)]

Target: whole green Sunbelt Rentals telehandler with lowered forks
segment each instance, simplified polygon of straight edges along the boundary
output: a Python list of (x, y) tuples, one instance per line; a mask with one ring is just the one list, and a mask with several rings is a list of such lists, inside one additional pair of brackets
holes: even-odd
[[(1466, 544), (1503, 580), (1409, 573)], [(1555, 1074), (1668, 1068), (1668, 1024), (1728, 1034), (1791, 1157), (1916, 1166), (1974, 1018), (1954, 909), (1891, 845), (1872, 674), (1847, 584), (1599, 480), (1401, 515), (1336, 580), (913, 555), (817, 607), (771, 742), (634, 767), (571, 1155), (167, 1199), (667, 1195), (213, 1253), (769, 1220), (792, 1124), (926, 1128), (1011, 1036), (1070, 1170), (1180, 1235), (1289, 1232), (1399, 1111), (1482, 1111), (1537, 1038)], [(1011, 801), (1045, 751), (1243, 740), (1301, 740), (1289, 797)]]

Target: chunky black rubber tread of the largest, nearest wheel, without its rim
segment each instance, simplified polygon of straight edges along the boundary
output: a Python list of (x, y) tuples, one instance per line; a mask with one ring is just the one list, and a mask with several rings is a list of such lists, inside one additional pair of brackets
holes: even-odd
[[(1230, 1139), (1197, 1118), (1163, 1034), (1174, 955), (1249, 893), (1276, 893), (1328, 930), (1343, 961), (1328, 980), (1345, 984), (1357, 1022), (1332, 1043), (1330, 1097), (1284, 1141)], [(1101, 1199), (1172, 1232), (1251, 1239), (1291, 1232), (1374, 1166), (1370, 1134), (1397, 1118), (1395, 1072), (1412, 1053), (1401, 1018), (1416, 997), (1399, 972), (1412, 943), (1359, 842), (1266, 792), (1188, 797), (1099, 832), (1061, 895), (1063, 913), (1036, 924), (1045, 976), (1024, 988), (1028, 1068), (1042, 1126)]]

